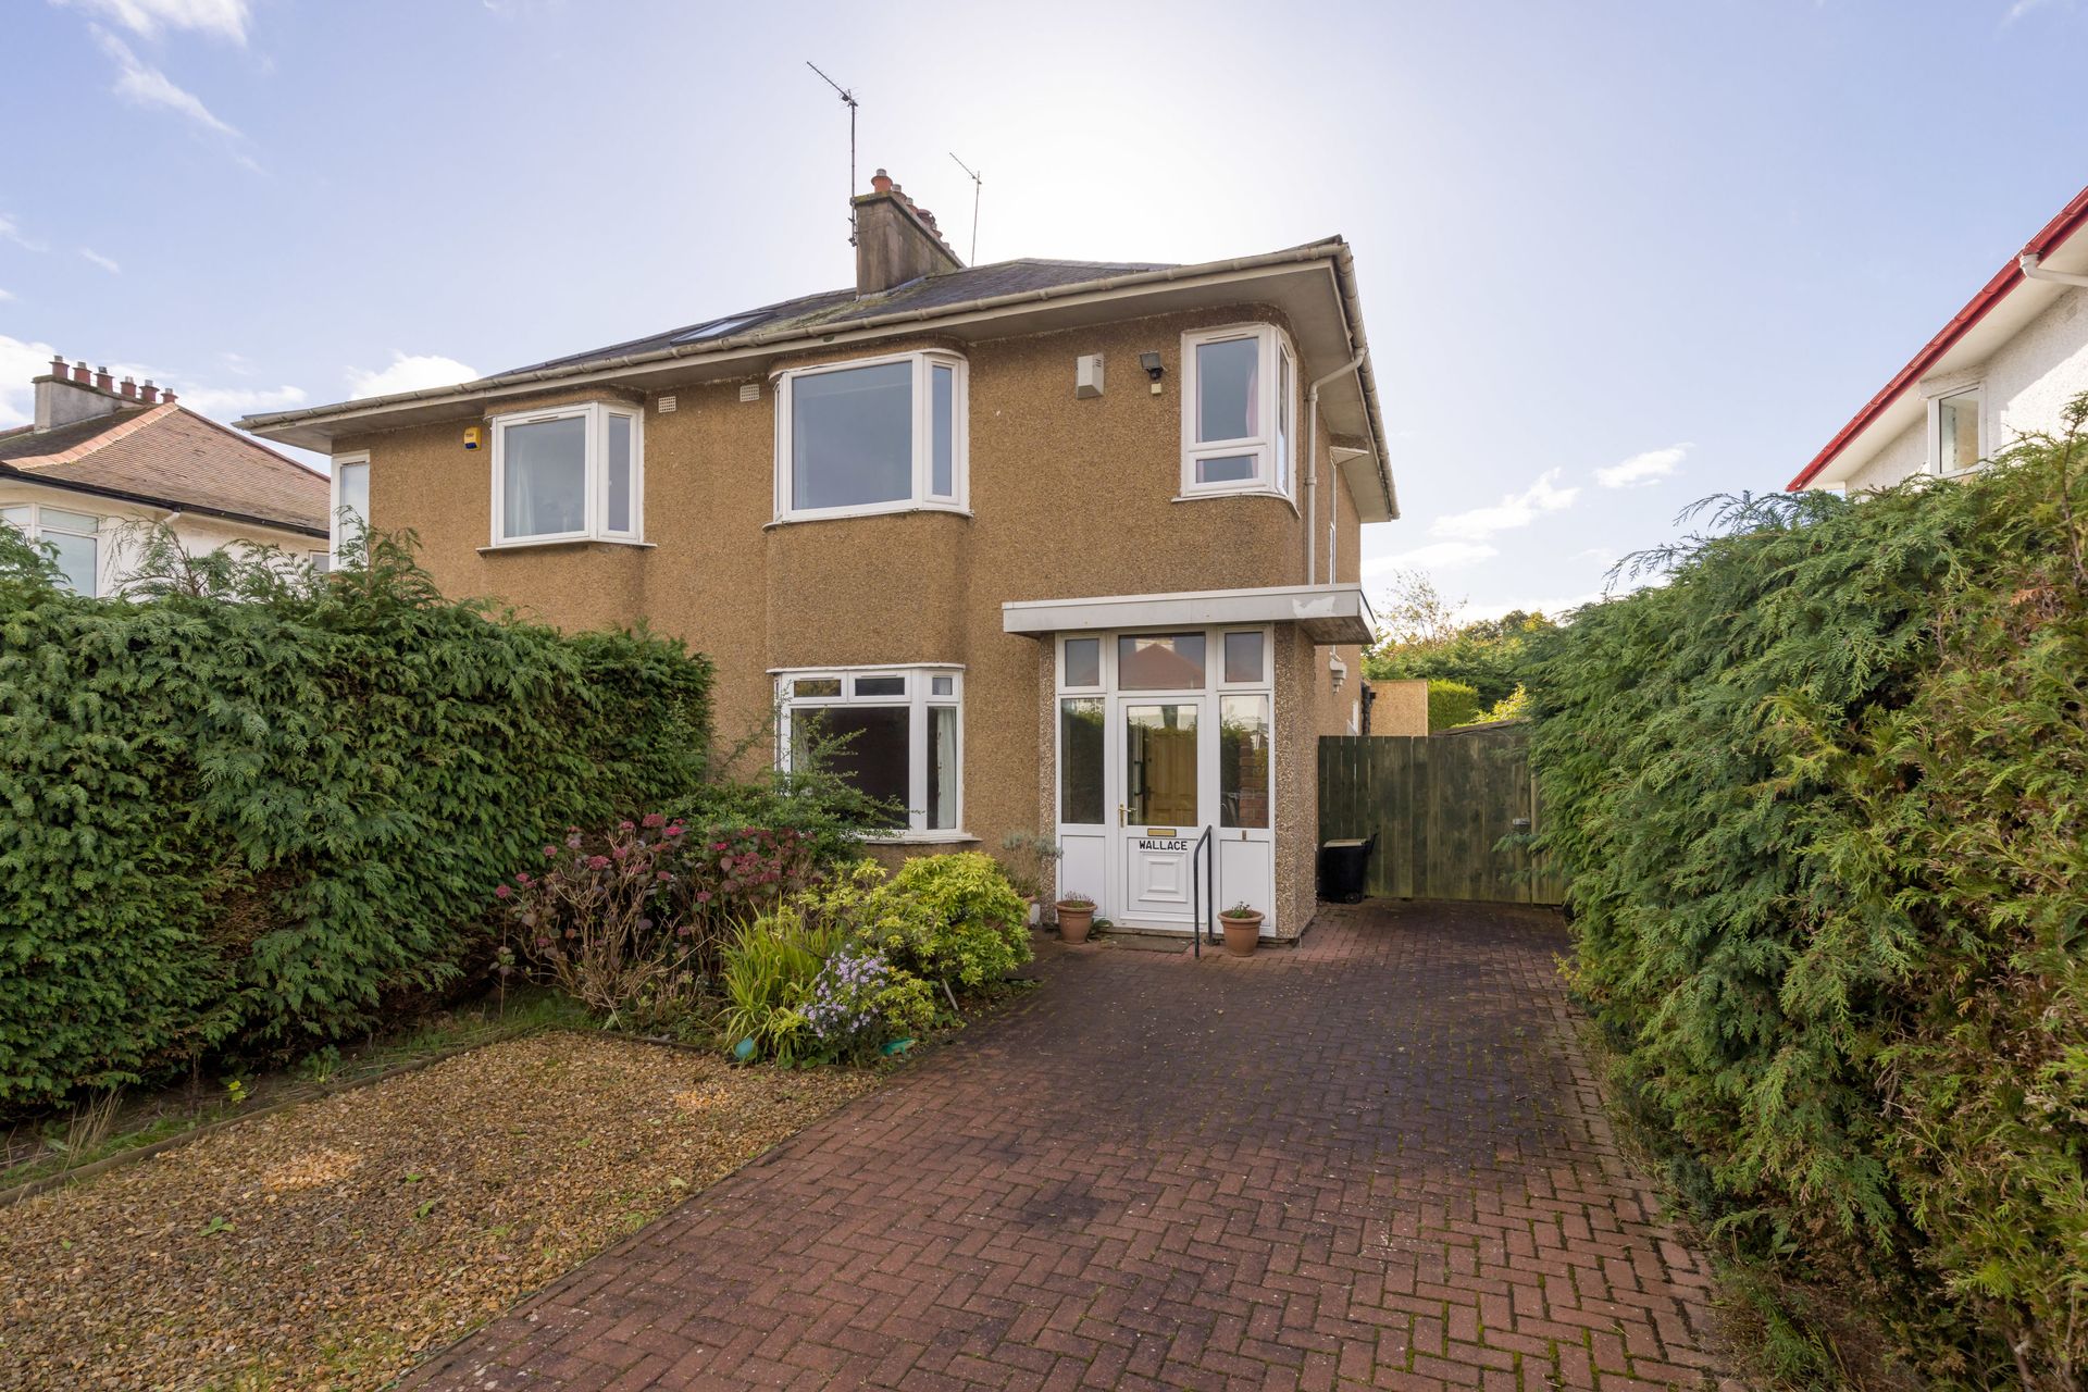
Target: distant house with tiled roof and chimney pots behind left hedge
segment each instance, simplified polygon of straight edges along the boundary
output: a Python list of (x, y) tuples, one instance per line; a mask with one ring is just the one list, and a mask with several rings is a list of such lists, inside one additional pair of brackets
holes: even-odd
[(33, 386), (29, 424), (0, 430), (0, 522), (50, 543), (81, 595), (123, 589), (140, 524), (165, 522), (192, 555), (326, 557), (326, 476), (106, 367), (54, 357)]

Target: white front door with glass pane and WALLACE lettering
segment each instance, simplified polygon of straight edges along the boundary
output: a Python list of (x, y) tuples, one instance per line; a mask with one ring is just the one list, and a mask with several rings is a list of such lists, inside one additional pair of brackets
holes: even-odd
[(1196, 839), (1209, 824), (1201, 795), (1203, 712), (1203, 697), (1117, 697), (1125, 922), (1196, 922), (1196, 895), (1203, 893), (1194, 883), (1201, 870)]

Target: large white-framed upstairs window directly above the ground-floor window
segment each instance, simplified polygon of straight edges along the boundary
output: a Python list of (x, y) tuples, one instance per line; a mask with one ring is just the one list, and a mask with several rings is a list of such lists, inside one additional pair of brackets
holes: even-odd
[(965, 359), (900, 353), (777, 378), (777, 520), (965, 507)]

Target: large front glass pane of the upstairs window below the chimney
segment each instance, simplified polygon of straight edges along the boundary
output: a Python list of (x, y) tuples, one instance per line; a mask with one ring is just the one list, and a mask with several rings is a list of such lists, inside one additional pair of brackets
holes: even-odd
[(791, 382), (791, 507), (912, 497), (912, 363)]

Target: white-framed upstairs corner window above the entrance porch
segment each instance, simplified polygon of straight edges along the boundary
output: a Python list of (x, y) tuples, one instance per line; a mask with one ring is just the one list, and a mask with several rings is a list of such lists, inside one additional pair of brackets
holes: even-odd
[(1182, 497), (1290, 497), (1297, 359), (1270, 323), (1182, 336)]

